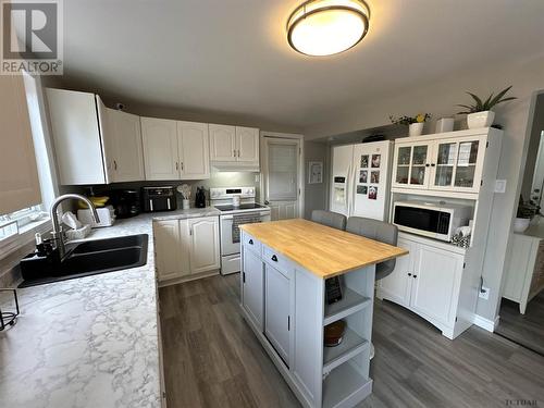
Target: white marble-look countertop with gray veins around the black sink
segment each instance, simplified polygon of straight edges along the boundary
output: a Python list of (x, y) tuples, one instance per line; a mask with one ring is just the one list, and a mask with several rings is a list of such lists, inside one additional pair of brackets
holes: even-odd
[[(218, 214), (206, 208), (118, 220), (87, 239), (148, 234), (144, 267), (17, 289), (21, 316), (0, 332), (0, 405), (160, 407), (152, 220)], [(4, 310), (8, 299), (0, 298)]]

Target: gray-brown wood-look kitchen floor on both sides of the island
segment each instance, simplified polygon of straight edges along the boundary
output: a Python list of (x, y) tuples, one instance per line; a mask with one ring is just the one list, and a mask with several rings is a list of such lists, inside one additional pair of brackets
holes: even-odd
[[(159, 296), (169, 408), (299, 407), (238, 312), (237, 274)], [(544, 357), (479, 327), (450, 342), (378, 300), (373, 343), (373, 394), (361, 407), (544, 407)]]

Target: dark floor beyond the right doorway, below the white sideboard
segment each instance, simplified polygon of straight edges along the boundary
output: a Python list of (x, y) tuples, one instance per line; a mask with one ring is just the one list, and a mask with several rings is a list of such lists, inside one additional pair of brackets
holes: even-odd
[(498, 334), (544, 356), (544, 292), (527, 305), (526, 314), (518, 304), (503, 299), (499, 316)]

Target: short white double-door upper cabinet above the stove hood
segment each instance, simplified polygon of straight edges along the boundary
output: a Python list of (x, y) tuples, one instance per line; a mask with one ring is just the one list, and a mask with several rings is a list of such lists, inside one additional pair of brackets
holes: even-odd
[(259, 171), (259, 129), (210, 125), (210, 160), (219, 170)]

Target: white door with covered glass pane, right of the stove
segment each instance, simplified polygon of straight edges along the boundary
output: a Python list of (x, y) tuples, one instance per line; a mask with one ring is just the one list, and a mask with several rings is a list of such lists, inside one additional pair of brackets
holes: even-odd
[(272, 209), (271, 219), (298, 218), (300, 140), (264, 137), (263, 146), (263, 195), (264, 203)]

